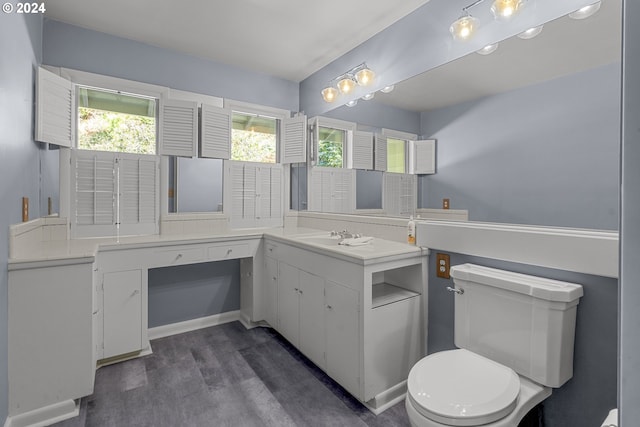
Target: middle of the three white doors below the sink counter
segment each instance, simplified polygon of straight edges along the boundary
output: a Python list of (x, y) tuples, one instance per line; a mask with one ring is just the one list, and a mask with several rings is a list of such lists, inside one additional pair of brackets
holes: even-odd
[(300, 271), (300, 351), (325, 369), (324, 279)]

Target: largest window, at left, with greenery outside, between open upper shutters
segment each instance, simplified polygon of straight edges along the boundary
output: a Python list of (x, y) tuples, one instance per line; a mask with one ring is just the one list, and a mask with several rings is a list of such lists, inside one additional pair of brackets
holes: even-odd
[(78, 87), (78, 148), (156, 153), (156, 100)]

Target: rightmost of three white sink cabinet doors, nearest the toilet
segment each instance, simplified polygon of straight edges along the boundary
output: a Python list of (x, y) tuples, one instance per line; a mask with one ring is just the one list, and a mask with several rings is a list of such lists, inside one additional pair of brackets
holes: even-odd
[(358, 293), (335, 282), (325, 285), (327, 373), (347, 391), (360, 393)]

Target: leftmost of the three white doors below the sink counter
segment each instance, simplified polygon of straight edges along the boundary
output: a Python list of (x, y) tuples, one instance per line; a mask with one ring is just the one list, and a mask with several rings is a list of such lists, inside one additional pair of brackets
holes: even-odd
[(284, 262), (278, 263), (278, 332), (291, 344), (299, 346), (299, 285), (298, 270)]

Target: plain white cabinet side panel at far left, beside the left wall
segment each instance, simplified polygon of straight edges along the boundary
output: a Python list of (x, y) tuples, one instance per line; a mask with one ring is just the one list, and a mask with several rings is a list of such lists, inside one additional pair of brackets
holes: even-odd
[[(46, 264), (46, 262), (45, 262)], [(93, 393), (93, 260), (9, 264), (9, 415)], [(62, 405), (62, 406), (61, 406)]]

